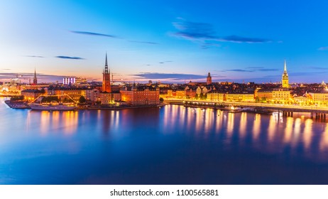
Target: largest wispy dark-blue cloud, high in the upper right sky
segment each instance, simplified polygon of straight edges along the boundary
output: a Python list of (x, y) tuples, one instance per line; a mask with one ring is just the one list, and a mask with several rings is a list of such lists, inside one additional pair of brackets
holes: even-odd
[[(173, 22), (173, 26), (177, 29), (177, 32), (173, 33), (173, 36), (185, 38), (190, 41), (200, 41), (202, 48), (206, 49), (210, 46), (219, 46), (214, 41), (226, 41), (234, 43), (267, 43), (270, 39), (266, 38), (250, 38), (244, 36), (217, 36), (212, 24), (210, 23), (196, 23), (192, 21), (185, 21), (179, 18), (180, 21)], [(212, 41), (212, 42), (207, 42)]]

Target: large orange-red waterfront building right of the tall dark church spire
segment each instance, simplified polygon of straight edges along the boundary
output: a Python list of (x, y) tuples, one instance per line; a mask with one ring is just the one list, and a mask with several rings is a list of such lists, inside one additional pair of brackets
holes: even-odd
[(157, 105), (160, 104), (160, 89), (152, 86), (125, 87), (121, 92), (121, 100), (129, 105)]

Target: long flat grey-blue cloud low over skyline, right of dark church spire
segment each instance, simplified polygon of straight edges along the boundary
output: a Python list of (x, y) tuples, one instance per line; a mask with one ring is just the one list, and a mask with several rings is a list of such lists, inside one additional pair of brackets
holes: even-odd
[(135, 76), (145, 79), (170, 79), (170, 80), (197, 80), (204, 79), (207, 75), (182, 74), (182, 73), (158, 73), (158, 72), (141, 72)]

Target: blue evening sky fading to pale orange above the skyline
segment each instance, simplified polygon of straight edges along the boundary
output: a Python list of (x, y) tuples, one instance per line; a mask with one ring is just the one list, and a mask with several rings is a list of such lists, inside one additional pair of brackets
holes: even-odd
[(328, 82), (328, 1), (0, 1), (0, 81)]

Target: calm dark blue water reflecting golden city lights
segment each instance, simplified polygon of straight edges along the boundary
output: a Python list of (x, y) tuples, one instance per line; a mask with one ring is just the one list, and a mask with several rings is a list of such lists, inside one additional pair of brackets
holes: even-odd
[(328, 184), (328, 125), (306, 114), (0, 113), (1, 184)]

